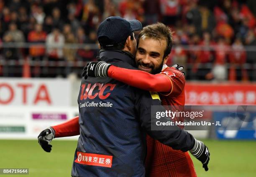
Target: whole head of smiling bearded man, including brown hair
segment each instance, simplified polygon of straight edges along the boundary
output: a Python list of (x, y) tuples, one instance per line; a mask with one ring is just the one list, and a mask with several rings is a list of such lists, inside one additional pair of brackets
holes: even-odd
[(147, 25), (138, 35), (137, 43), (138, 68), (151, 74), (161, 72), (172, 50), (172, 30), (160, 22)]

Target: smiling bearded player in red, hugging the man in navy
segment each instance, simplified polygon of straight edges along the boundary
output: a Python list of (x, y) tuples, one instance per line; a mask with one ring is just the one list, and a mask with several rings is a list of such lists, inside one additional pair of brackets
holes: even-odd
[[(133, 87), (159, 92), (162, 105), (185, 104), (185, 77), (174, 67), (165, 65), (172, 48), (172, 32), (166, 25), (157, 23), (143, 28), (138, 36), (136, 63), (140, 70), (129, 70), (90, 62), (83, 72), (87, 77), (111, 77)], [(93, 68), (93, 70), (91, 70)], [(51, 127), (55, 137), (79, 135), (78, 117)], [(52, 130), (51, 129), (51, 130)], [(53, 133), (54, 134), (54, 133)], [(196, 177), (188, 152), (173, 150), (159, 141), (147, 138), (146, 176), (149, 177)], [(192, 155), (195, 155), (191, 151)], [(203, 163), (208, 170), (207, 163)]]

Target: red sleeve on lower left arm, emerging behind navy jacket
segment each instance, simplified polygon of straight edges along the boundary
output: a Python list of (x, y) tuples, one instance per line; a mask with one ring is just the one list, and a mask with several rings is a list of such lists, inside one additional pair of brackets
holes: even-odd
[(52, 128), (55, 130), (55, 137), (59, 138), (80, 135), (78, 120), (79, 116), (74, 117), (71, 120), (68, 120), (67, 122), (64, 122), (62, 124), (52, 126)]

